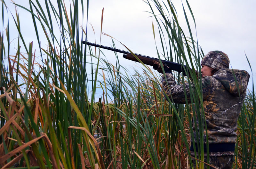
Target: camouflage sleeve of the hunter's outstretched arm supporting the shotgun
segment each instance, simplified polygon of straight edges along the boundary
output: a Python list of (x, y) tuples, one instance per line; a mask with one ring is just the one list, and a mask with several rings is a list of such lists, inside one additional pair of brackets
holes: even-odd
[[(180, 103), (185, 104), (185, 93), (187, 95), (188, 103), (191, 103), (190, 99), (190, 90), (189, 90), (189, 84), (184, 83), (181, 85), (177, 85), (176, 81), (171, 73), (165, 73), (166, 79), (164, 77), (164, 74), (162, 75), (162, 87), (166, 94), (164, 94), (165, 99), (167, 97), (170, 98), (170, 100), (173, 100), (173, 103)], [(208, 78), (202, 78), (202, 87), (203, 87), (203, 99), (207, 97), (209, 85), (210, 85), (210, 79)], [(193, 83), (191, 83), (191, 86), (193, 87)], [(192, 89), (194, 90), (194, 89)], [(166, 96), (167, 95), (167, 96)]]

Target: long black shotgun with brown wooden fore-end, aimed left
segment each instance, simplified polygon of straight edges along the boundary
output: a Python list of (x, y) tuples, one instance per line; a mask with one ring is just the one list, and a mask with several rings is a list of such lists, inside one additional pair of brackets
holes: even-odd
[[(124, 54), (123, 57), (125, 59), (131, 60), (131, 61), (134, 61), (134, 62), (140, 62), (141, 61), (144, 64), (147, 64), (147, 65), (150, 65), (150, 66), (154, 66), (153, 60), (159, 62), (158, 58), (149, 57), (149, 56), (134, 53), (134, 55), (136, 55), (140, 59), (140, 61), (138, 61), (138, 59), (135, 58), (130, 52), (127, 52), (127, 51), (124, 51), (124, 50), (111, 48), (111, 47), (107, 47), (107, 46), (102, 46), (102, 45), (98, 45), (98, 44), (91, 43), (91, 42), (85, 42), (85, 41), (83, 41), (83, 44), (90, 45), (90, 46), (95, 46), (95, 47), (103, 48), (103, 49), (107, 49), (107, 50), (111, 50), (111, 51), (114, 51), (114, 52), (123, 53)], [(184, 76), (186, 76), (185, 70), (190, 69), (186, 65), (184, 65), (184, 67), (183, 67), (179, 63), (170, 62), (170, 61), (166, 61), (166, 60), (161, 60), (161, 61), (162, 61), (163, 64), (167, 65), (171, 70), (182, 72)]]

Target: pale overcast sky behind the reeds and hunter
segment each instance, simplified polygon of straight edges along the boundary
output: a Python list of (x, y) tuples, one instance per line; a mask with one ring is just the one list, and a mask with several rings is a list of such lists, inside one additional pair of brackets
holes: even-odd
[[(16, 3), (26, 5), (25, 0), (16, 0)], [(54, 1), (51, 1), (54, 2)], [(196, 19), (197, 37), (204, 54), (212, 50), (225, 52), (233, 69), (247, 70), (250, 75), (248, 88), (252, 90), (252, 73), (249, 69), (245, 54), (247, 55), (253, 71), (256, 72), (255, 45), (256, 45), (256, 1), (238, 0), (188, 0)], [(178, 19), (186, 35), (186, 21), (184, 19), (181, 0), (173, 1), (178, 12)], [(185, 1), (183, 1), (186, 4)], [(14, 7), (9, 8), (14, 12)], [(66, 3), (68, 5), (69, 3)], [(185, 5), (186, 6), (186, 5)], [(156, 57), (156, 47), (152, 31), (152, 18), (146, 12), (150, 11), (149, 6), (142, 0), (91, 0), (89, 2), (88, 23), (92, 24), (95, 35), (90, 25), (88, 25), (88, 40), (100, 43), (100, 22), (101, 11), (104, 7), (102, 32), (111, 35), (124, 43), (133, 52)], [(24, 38), (29, 41), (37, 41), (31, 15), (18, 8)], [(189, 11), (187, 11), (189, 12)], [(26, 17), (25, 17), (26, 16)], [(9, 19), (11, 16), (9, 14)], [(190, 18), (190, 24), (193, 25)], [(84, 22), (85, 23), (85, 22)], [(10, 21), (11, 30), (16, 29)], [(85, 24), (84, 24), (85, 27)], [(1, 28), (2, 29), (2, 28)], [(24, 31), (26, 30), (26, 31)], [(195, 31), (194, 31), (195, 32)], [(17, 34), (11, 34), (11, 39)], [(37, 42), (36, 42), (37, 43)], [(42, 42), (44, 43), (44, 42)], [(158, 43), (158, 42), (156, 42)], [(46, 44), (46, 41), (45, 41)], [(111, 45), (111, 39), (102, 35), (101, 44)], [(17, 44), (12, 44), (11, 48), (16, 48)], [(125, 50), (124, 46), (116, 41), (116, 48)], [(110, 56), (109, 56), (110, 57)], [(122, 57), (122, 54), (120, 54)], [(121, 59), (121, 64), (131, 67), (134, 62)], [(231, 67), (230, 67), (231, 68)]]

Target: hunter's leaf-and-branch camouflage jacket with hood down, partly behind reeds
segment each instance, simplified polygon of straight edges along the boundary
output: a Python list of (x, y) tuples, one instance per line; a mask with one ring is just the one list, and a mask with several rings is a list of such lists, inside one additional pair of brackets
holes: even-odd
[[(188, 83), (177, 85), (171, 73), (165, 75), (167, 81), (163, 75), (162, 86), (167, 96), (173, 99), (174, 103), (185, 104), (186, 90), (188, 102), (191, 103)], [(244, 70), (220, 69), (212, 76), (202, 78), (203, 106), (209, 143), (236, 143), (237, 119), (246, 96), (249, 77)], [(196, 123), (198, 124), (197, 120)], [(195, 128), (193, 121), (194, 136)]]

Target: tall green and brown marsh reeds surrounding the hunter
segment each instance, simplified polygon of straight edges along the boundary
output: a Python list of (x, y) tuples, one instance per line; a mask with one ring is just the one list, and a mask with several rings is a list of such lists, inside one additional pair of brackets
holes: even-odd
[[(202, 119), (196, 114), (203, 105), (201, 79), (197, 81), (192, 76), (195, 91), (191, 87), (193, 94), (186, 98), (187, 104), (169, 103), (164, 99), (159, 74), (151, 68), (131, 75), (119, 63), (117, 54), (113, 54), (116, 63), (109, 63), (102, 51), (81, 43), (86, 40), (87, 23), (81, 27), (79, 18), (87, 20), (88, 0), (74, 0), (70, 6), (61, 0), (56, 1), (56, 6), (48, 0), (28, 2), (29, 8), (16, 6), (26, 10), (33, 20), (36, 37), (29, 45), (20, 29), (23, 16), (18, 11), (11, 14), (2, 2), (3, 18), (7, 12), (12, 17), (7, 17), (7, 24), (3, 20), (0, 31), (1, 167), (189, 168), (192, 116)], [(170, 1), (146, 3), (155, 19), (154, 36), (161, 41), (162, 48), (157, 48), (159, 58), (163, 55), (166, 60), (191, 63), (195, 74), (204, 54), (187, 19), (187, 15), (192, 16), (195, 26), (188, 2), (189, 12), (184, 7), (184, 15), (189, 38)], [(13, 19), (19, 32), (13, 55), (9, 19)], [(59, 30), (54, 29), (55, 25)], [(40, 34), (39, 29), (45, 34)], [(40, 43), (45, 39), (47, 48)], [(35, 43), (40, 61), (33, 52)], [(191, 85), (187, 77), (175, 74), (175, 78), (179, 84), (188, 81)], [(97, 91), (102, 91), (100, 99), (95, 98)], [(195, 102), (188, 104), (188, 99)], [(247, 94), (238, 119), (234, 168), (256, 167), (255, 120), (253, 89)], [(203, 136), (204, 123), (199, 121), (198, 138)], [(207, 163), (201, 162), (203, 147), (196, 158), (200, 160), (198, 167), (203, 168)]]

